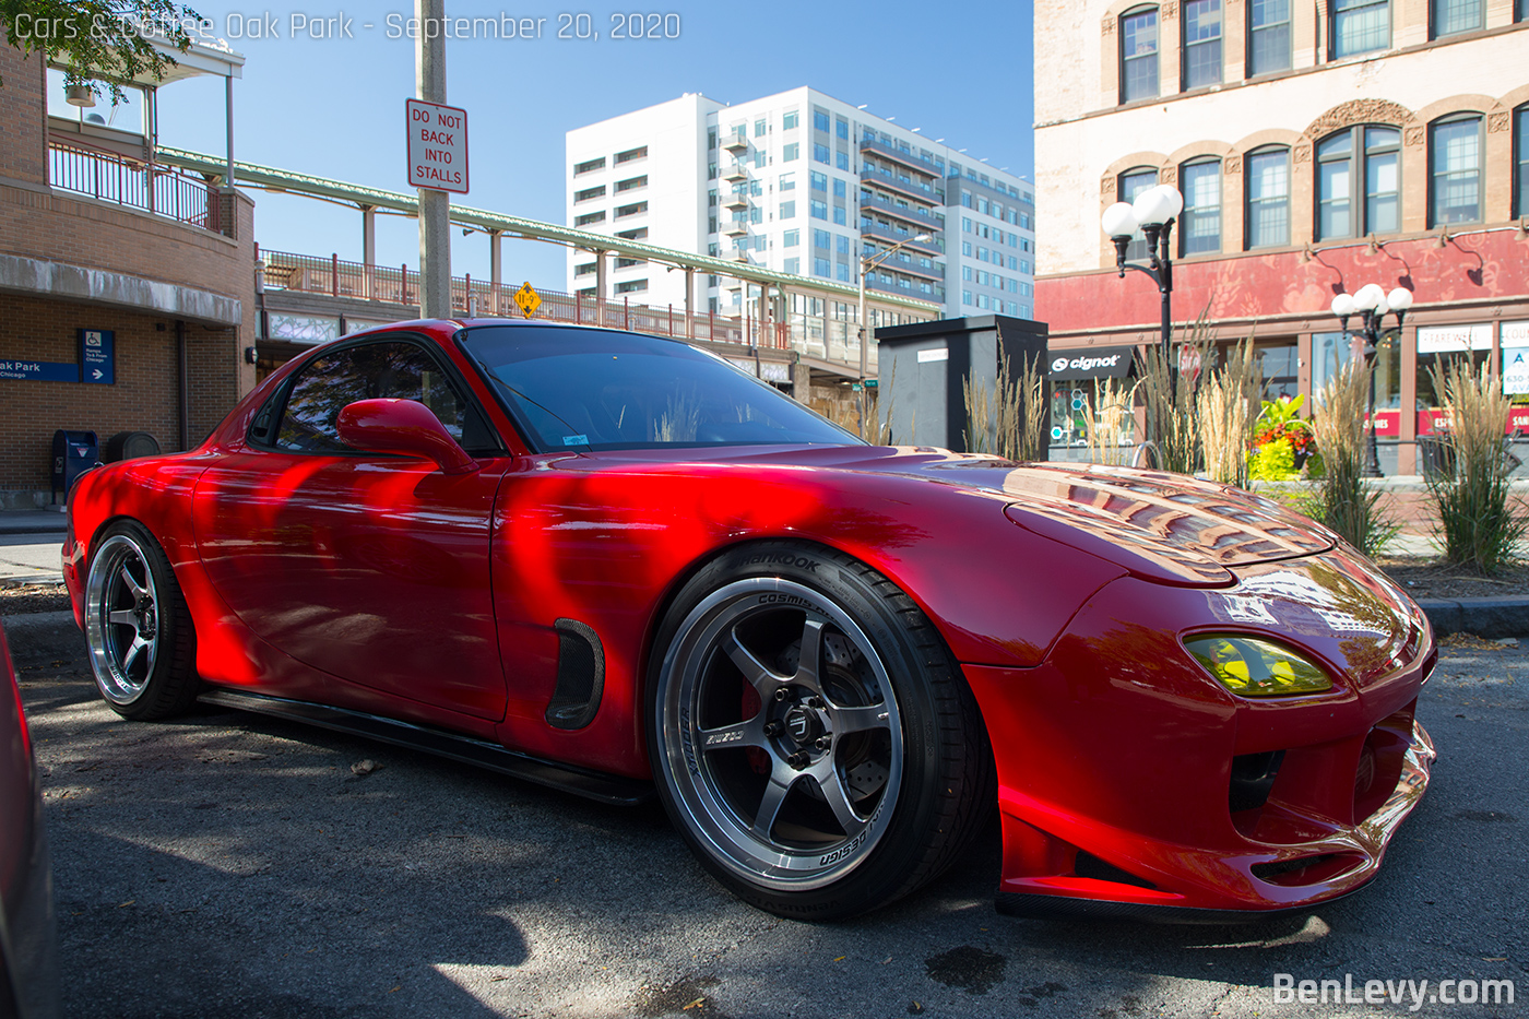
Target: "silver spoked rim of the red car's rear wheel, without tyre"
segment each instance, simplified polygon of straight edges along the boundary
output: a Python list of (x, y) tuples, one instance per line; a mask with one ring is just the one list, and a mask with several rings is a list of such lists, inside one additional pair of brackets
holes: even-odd
[[(162, 624), (154, 572), (138, 542), (115, 534), (101, 543), (90, 560), (84, 601), (86, 646), (96, 687), (113, 704), (131, 704), (154, 675)], [(135, 679), (135, 673), (142, 678)]]

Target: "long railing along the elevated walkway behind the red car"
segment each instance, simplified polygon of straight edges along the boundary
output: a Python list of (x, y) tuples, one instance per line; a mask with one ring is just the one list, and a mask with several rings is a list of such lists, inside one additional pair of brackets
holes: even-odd
[[(419, 301), (419, 272), (407, 265), (398, 268), (347, 262), (339, 256), (315, 257), (291, 251), (257, 248), (257, 268), (265, 289), (300, 294), (323, 294), (388, 304)], [(474, 280), (471, 275), (451, 278), (451, 308), (462, 317), (515, 317), (514, 283)], [(589, 295), (537, 289), (541, 304), (535, 318), (567, 321), (609, 329), (628, 329), (654, 337), (732, 343), (743, 347), (798, 350), (807, 356), (844, 364), (859, 363), (859, 337), (855, 323), (823, 315), (794, 312), (781, 320), (761, 321), (758, 315), (725, 315), (691, 312), (673, 304), (654, 306), (631, 301), (630, 295), (596, 300)], [(876, 364), (875, 347), (870, 352)]]

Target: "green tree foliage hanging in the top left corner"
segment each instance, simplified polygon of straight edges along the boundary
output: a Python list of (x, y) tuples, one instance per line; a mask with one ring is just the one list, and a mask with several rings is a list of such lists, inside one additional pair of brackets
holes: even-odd
[(0, 21), (11, 46), (66, 64), (66, 84), (87, 86), (116, 106), (124, 98), (116, 83), (164, 78), (176, 61), (154, 43), (187, 52), (187, 28), (202, 15), (167, 0), (0, 0)]

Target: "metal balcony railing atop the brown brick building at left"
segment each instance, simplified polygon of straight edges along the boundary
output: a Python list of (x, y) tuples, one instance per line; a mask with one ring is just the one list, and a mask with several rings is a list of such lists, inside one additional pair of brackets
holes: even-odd
[(182, 170), (138, 162), (112, 151), (49, 142), (47, 182), (60, 191), (153, 213), (216, 234), (225, 233), (222, 196), (202, 177)]

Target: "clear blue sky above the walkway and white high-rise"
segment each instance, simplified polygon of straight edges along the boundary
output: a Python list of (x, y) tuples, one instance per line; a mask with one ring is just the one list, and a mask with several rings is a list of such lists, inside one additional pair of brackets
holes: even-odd
[[(292, 15), (336, 8), (193, 3), (246, 57), (234, 84), (237, 159), (407, 191), (404, 99), (414, 93), (414, 43), (388, 38), (388, 14), (413, 5), (347, 5), (355, 38), (292, 37)], [(636, 11), (630, 2), (625, 9)], [(679, 14), (677, 40), (615, 40), (612, 8), (586, 6), (596, 40), (560, 40), (558, 9), (446, 0), (448, 17), (546, 18), (541, 38), (446, 43), (448, 101), (468, 110), (472, 190), (457, 199), (563, 222), (564, 132), (644, 106), (702, 92), (723, 103), (812, 86), (868, 112), (896, 116), (1032, 176), (1031, 0), (876, 5), (778, 0), (654, 6)], [(280, 38), (231, 38), (268, 14)], [(573, 12), (573, 9), (570, 9)], [(365, 21), (375, 24), (367, 31)], [(674, 21), (670, 21), (673, 29)], [(246, 29), (248, 31), (248, 29)], [(220, 81), (191, 80), (161, 92), (165, 145), (223, 151)], [(359, 214), (335, 205), (255, 191), (255, 236), (266, 248), (361, 257)], [(378, 260), (416, 266), (413, 220), (384, 217)], [(561, 289), (563, 249), (505, 243), (506, 282)], [(488, 240), (454, 236), (453, 272), (488, 275)]]

